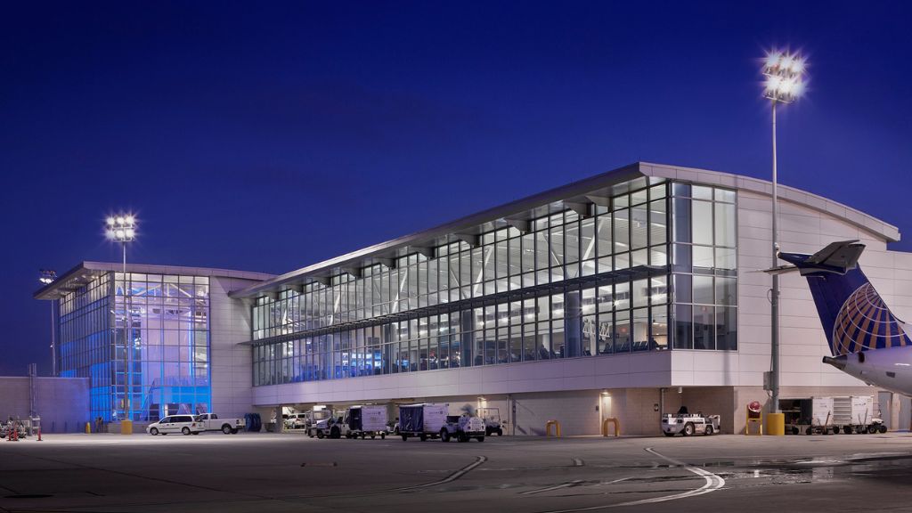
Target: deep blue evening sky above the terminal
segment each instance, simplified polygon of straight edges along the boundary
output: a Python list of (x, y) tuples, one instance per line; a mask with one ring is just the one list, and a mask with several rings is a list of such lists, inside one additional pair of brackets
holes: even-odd
[(684, 4), (7, 3), (0, 375), (119, 208), (130, 261), (281, 273), (637, 160), (767, 178), (768, 47), (811, 62), (781, 182), (912, 250), (912, 8)]

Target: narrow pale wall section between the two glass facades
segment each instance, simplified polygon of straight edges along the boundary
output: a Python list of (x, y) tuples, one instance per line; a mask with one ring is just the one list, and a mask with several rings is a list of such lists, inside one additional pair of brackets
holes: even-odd
[(210, 277), (210, 371), (212, 412), (225, 417), (243, 417), (253, 412), (253, 350), (240, 345), (250, 340), (249, 303), (228, 293), (256, 283), (237, 277)]

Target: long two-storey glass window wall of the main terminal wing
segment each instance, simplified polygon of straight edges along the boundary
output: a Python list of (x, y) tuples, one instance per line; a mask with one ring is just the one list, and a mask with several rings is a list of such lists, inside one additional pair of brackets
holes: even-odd
[(523, 231), (502, 220), (257, 298), (254, 385), (736, 351), (735, 192), (646, 178), (612, 190), (585, 212), (546, 206)]

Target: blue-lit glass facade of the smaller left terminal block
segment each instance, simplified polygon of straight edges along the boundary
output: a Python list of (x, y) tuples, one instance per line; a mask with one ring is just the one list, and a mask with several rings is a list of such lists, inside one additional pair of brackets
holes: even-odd
[(92, 418), (210, 411), (209, 277), (106, 272), (58, 301), (59, 375), (90, 378)]

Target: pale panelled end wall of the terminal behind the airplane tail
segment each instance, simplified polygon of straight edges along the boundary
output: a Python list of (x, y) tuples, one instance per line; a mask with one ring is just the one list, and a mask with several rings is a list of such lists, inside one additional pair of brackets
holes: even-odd
[[(735, 372), (730, 384), (762, 386), (770, 369), (770, 303), (772, 278), (756, 272), (772, 265), (772, 215), (768, 196), (741, 192), (738, 196), (739, 351), (736, 361), (725, 361)], [(888, 251), (886, 242), (864, 228), (807, 205), (781, 203), (780, 246), (783, 251), (814, 253), (827, 244), (859, 239), (865, 244), (860, 265), (865, 275), (897, 316), (912, 315), (912, 254)], [(824, 330), (807, 280), (797, 274), (780, 278), (780, 348), (782, 386), (845, 386), (863, 383), (823, 363), (830, 354)], [(676, 361), (677, 363), (677, 361)], [(720, 369), (720, 362), (712, 364)], [(688, 370), (676, 368), (677, 373)], [(694, 384), (707, 382), (705, 372)], [(677, 382), (677, 380), (676, 380)], [(871, 392), (873, 393), (873, 392)]]

